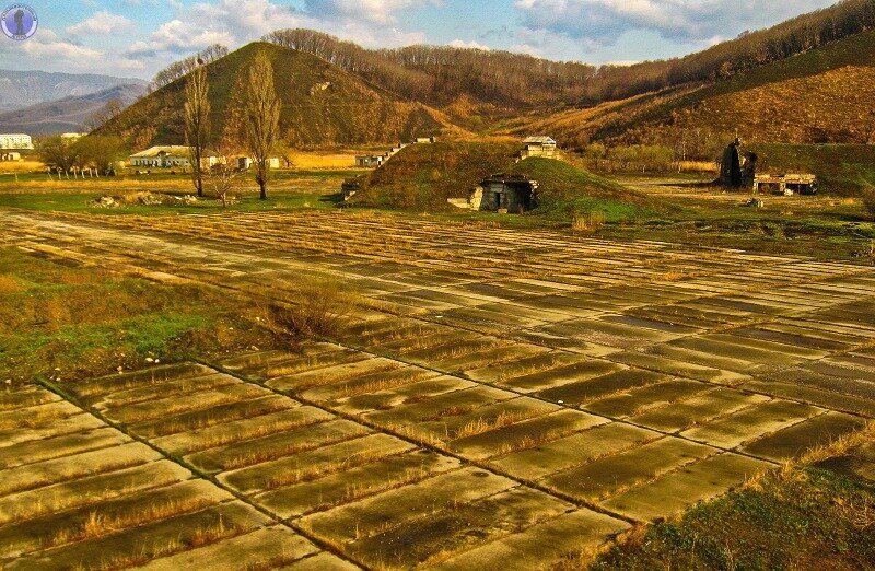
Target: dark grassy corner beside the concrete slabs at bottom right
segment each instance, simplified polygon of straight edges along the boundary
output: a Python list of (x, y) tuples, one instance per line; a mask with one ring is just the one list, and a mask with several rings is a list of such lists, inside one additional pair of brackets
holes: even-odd
[[(875, 433), (856, 440), (871, 450)], [(585, 567), (867, 569), (875, 562), (875, 481), (835, 470), (863, 454), (860, 446), (819, 451), (817, 462), (790, 463), (681, 516), (637, 527)]]

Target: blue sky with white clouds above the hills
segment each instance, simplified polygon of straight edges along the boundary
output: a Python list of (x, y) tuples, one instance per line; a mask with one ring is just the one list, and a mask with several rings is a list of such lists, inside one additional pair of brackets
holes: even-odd
[[(0, 10), (22, 0), (0, 0)], [(151, 79), (220, 43), (308, 27), (365, 47), (503, 49), (627, 63), (684, 56), (835, 0), (23, 0), (39, 27), (0, 36), (0, 68)]]

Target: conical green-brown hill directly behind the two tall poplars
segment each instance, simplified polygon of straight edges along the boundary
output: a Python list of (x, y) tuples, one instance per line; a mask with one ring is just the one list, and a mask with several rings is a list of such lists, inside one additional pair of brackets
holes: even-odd
[[(439, 112), (401, 101), (316, 56), (255, 43), (207, 67), (214, 139), (241, 106), (243, 82), (257, 51), (267, 51), (273, 63), (282, 104), (281, 138), (289, 144), (390, 143), (453, 129)], [(185, 79), (177, 80), (135, 103), (98, 132), (120, 135), (135, 149), (182, 144), (184, 90)]]

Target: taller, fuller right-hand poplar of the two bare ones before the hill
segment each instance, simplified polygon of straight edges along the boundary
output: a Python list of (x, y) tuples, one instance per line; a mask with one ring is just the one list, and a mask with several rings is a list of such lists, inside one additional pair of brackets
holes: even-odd
[(280, 129), (280, 102), (273, 86), (273, 66), (265, 51), (258, 53), (249, 68), (245, 106), (246, 142), (255, 163), (255, 182), (261, 200), (267, 200), (270, 153)]

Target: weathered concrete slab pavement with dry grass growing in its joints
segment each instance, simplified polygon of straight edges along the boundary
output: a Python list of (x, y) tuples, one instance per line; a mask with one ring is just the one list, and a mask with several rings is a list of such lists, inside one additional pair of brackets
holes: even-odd
[[(301, 353), (0, 394), (9, 569), (549, 566), (875, 418), (867, 266), (350, 213), (3, 220), (85, 266), (364, 300)], [(45, 540), (95, 502), (166, 509)]]

